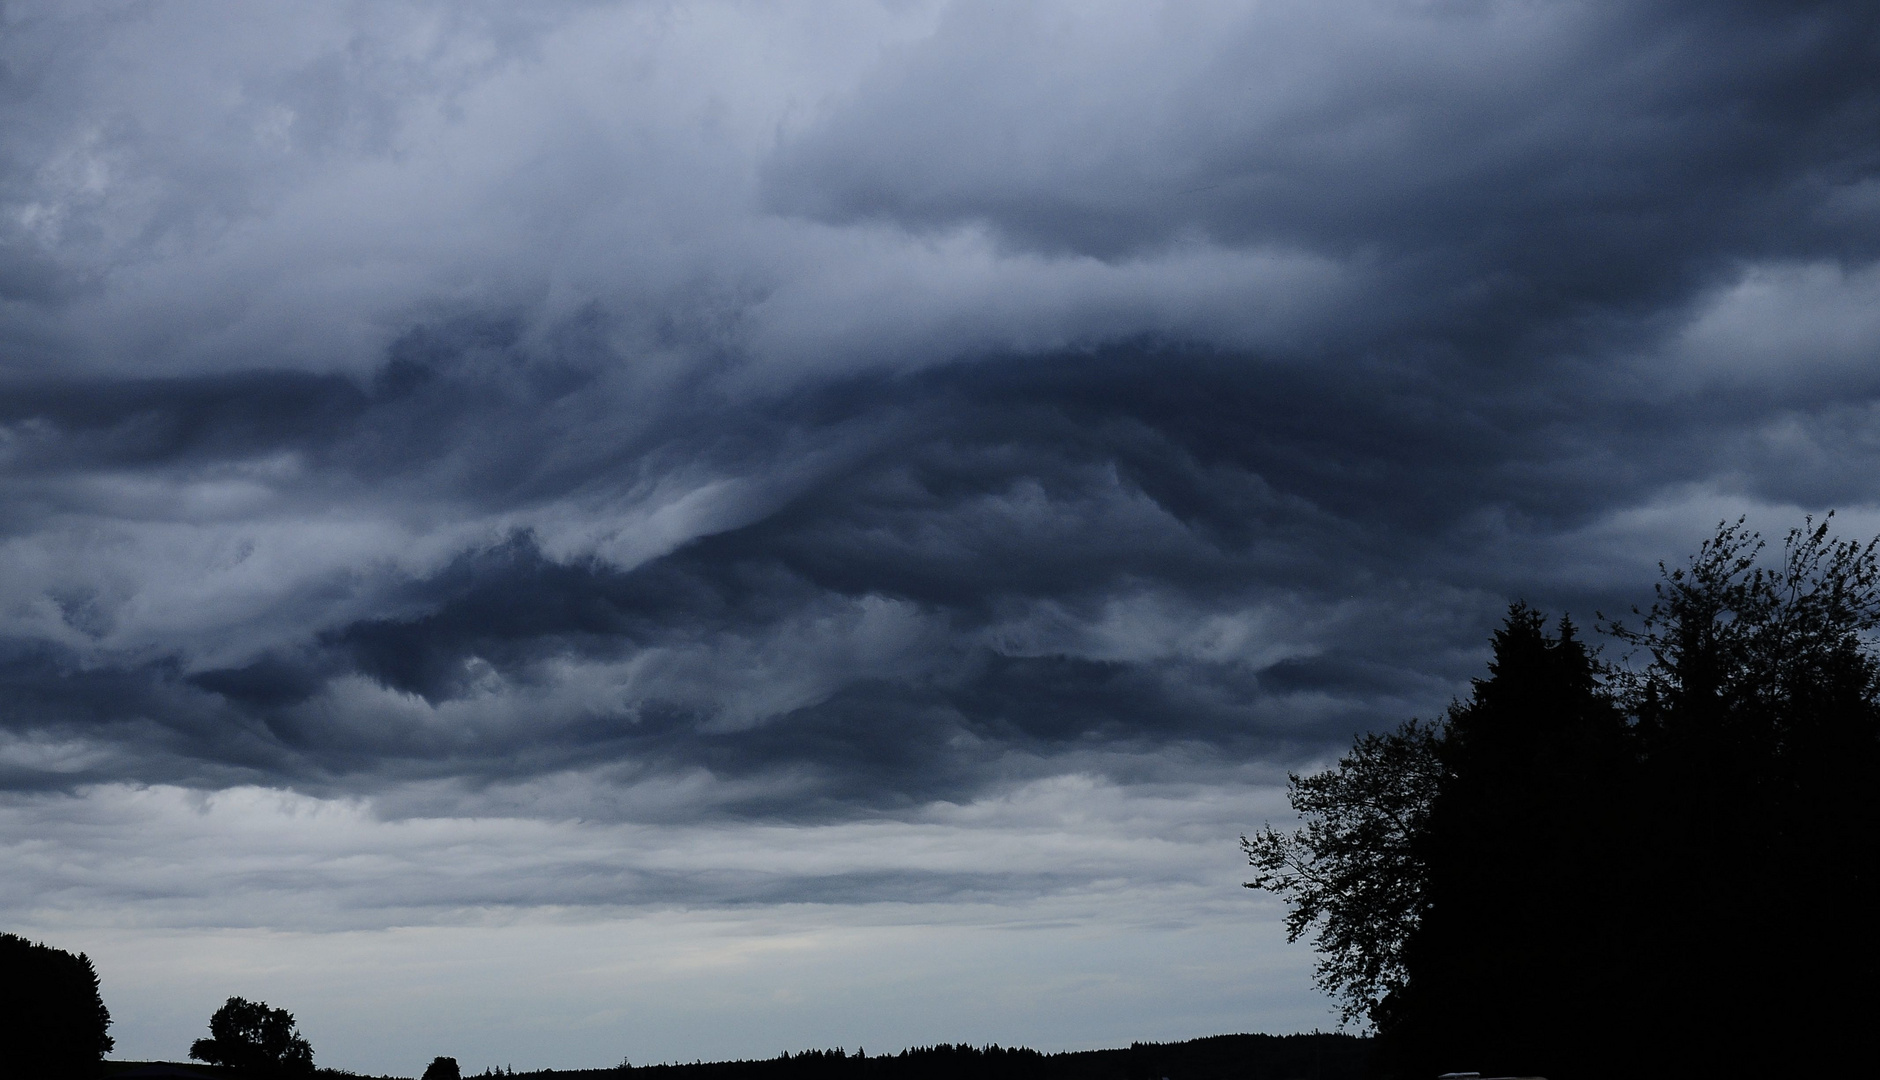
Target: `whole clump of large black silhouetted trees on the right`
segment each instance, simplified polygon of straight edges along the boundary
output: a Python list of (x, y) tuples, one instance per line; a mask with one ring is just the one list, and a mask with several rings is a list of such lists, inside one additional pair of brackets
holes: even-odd
[[(1880, 559), (1743, 521), (1602, 662), (1513, 606), (1436, 724), (1292, 777), (1243, 837), (1395, 1072), (1735, 1072), (1867, 1016), (1880, 909)], [(1856, 988), (1848, 990), (1848, 975)]]

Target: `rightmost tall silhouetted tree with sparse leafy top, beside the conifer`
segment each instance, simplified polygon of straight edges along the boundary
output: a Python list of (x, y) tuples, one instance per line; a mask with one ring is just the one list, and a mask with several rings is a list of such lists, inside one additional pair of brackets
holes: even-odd
[[(1848, 1046), (1880, 960), (1880, 551), (1720, 525), (1668, 570), (1641, 625), (1611, 625), (1636, 666), (1615, 685), (1636, 717), (1651, 897), (1628, 950), (1637, 1033), (1662, 1067), (1799, 1067)], [(1854, 975), (1850, 980), (1848, 977)], [(1662, 1054), (1660, 1057), (1653, 1057)], [(1825, 1057), (1824, 1057), (1825, 1059)]]

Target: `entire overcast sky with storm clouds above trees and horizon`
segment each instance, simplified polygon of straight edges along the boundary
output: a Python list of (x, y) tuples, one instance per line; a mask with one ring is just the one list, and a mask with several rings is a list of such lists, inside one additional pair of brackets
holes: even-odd
[(0, 6), (0, 929), (118, 1057), (1331, 1027), (1237, 835), (1880, 531), (1880, 6)]

